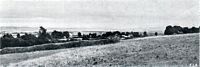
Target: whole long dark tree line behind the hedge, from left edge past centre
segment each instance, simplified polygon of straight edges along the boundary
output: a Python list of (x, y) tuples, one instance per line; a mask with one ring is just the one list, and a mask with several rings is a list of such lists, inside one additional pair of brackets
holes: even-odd
[[(113, 32), (105, 32), (101, 35), (97, 35), (97, 33), (89, 33), (89, 34), (82, 34), (78, 32), (77, 37), (74, 38), (82, 38), (82, 40), (99, 40), (99, 39), (110, 39), (114, 37), (130, 39), (133, 37), (145, 37), (148, 36), (147, 32), (139, 33), (139, 32), (120, 32), (120, 31), (113, 31)], [(51, 34), (47, 33), (47, 29), (44, 27), (40, 27), (38, 37), (33, 34), (25, 33), (24, 35), (17, 34), (17, 37), (14, 38), (11, 34), (5, 34), (1, 37), (1, 46), (0, 48), (4, 47), (25, 47), (25, 46), (33, 46), (39, 45), (44, 43), (56, 43), (56, 42), (63, 42), (59, 41), (59, 39), (71, 39), (70, 33), (68, 31), (56, 31), (54, 30)]]

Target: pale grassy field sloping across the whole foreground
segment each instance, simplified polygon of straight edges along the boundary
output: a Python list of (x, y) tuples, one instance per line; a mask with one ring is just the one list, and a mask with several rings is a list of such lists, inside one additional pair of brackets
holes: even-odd
[(198, 67), (199, 34), (153, 36), (119, 43), (0, 55), (0, 66)]

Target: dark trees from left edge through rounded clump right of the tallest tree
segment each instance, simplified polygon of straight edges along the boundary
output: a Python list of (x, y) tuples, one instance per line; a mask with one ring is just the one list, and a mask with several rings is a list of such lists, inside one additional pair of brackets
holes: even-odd
[(33, 34), (25, 33), (24, 35), (17, 34), (17, 38), (14, 38), (11, 34), (5, 34), (1, 37), (1, 46), (4, 47), (24, 47), (24, 46), (33, 46), (44, 43), (58, 42), (57, 39), (66, 37), (69, 38), (69, 32), (59, 32), (53, 31), (51, 34), (46, 32), (47, 30), (43, 27), (40, 27), (38, 37)]

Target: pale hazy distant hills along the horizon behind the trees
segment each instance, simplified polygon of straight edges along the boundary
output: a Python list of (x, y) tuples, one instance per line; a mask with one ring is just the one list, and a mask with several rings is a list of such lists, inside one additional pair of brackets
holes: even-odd
[[(38, 32), (39, 27), (16, 27), (16, 26), (2, 26), (0, 27), (0, 32)], [(103, 29), (103, 28), (46, 28), (48, 32), (53, 30), (58, 31), (86, 31), (86, 32), (96, 32), (96, 31), (134, 31), (134, 32), (163, 32), (164, 29), (159, 27), (151, 28), (132, 28), (132, 29)]]

